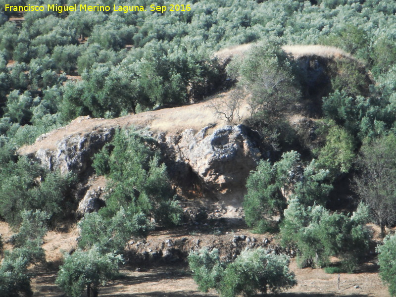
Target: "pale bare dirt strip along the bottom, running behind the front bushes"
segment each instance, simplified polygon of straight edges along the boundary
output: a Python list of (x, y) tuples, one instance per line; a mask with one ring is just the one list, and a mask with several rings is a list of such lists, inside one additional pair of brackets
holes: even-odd
[[(292, 260), (290, 268), (296, 274), (297, 286), (282, 294), (269, 296), (390, 297), (387, 287), (378, 277), (377, 266), (373, 263), (365, 263), (360, 273), (342, 273), (340, 290), (337, 289), (337, 274), (326, 274), (323, 269), (298, 269), (295, 260)], [(218, 297), (214, 290), (199, 292), (186, 265), (143, 268), (140, 271), (127, 267), (121, 273), (120, 279), (109, 282), (100, 289), (100, 297)], [(63, 296), (62, 291), (54, 285), (55, 278), (54, 272), (41, 273), (33, 281), (34, 296)]]

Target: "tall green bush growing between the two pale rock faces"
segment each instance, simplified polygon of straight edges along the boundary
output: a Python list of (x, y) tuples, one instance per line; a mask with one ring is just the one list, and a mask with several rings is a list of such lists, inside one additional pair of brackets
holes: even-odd
[[(120, 130), (113, 142), (95, 155), (98, 174), (111, 179), (113, 189), (100, 213), (112, 217), (123, 207), (127, 213), (143, 213), (156, 223), (173, 226), (181, 222), (169, 177), (158, 155), (149, 149), (153, 139), (134, 130)], [(110, 152), (110, 148), (111, 152)]]

